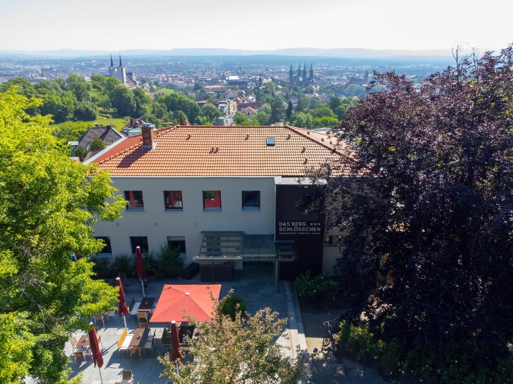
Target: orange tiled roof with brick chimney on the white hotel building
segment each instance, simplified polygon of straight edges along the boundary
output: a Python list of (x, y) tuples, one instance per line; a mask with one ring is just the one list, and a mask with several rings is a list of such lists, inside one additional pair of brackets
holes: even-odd
[[(336, 140), (290, 126), (173, 126), (128, 137), (93, 160), (111, 176), (302, 176), (308, 167), (338, 158)], [(275, 139), (267, 146), (266, 138)], [(331, 139), (331, 140), (330, 140)]]

